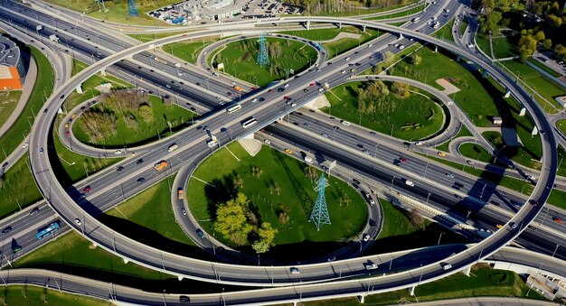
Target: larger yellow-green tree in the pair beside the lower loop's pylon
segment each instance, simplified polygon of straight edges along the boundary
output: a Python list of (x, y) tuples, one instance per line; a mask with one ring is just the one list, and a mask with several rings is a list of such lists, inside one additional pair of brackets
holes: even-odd
[(236, 199), (221, 204), (216, 209), (216, 221), (214, 230), (222, 236), (231, 239), (234, 243), (242, 246), (248, 239), (252, 230), (246, 218), (248, 209), (248, 198), (243, 193), (238, 193)]

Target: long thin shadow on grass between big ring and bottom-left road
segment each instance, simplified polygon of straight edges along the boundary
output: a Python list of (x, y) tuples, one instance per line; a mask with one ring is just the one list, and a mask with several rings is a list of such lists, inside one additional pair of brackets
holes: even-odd
[(179, 281), (176, 277), (159, 273), (160, 279), (146, 279), (138, 274), (127, 274), (123, 272), (94, 268), (81, 264), (66, 264), (45, 262), (35, 264), (25, 264), (20, 268), (37, 268), (47, 269), (61, 272), (64, 274), (73, 274), (102, 282), (121, 284), (128, 287), (134, 287), (146, 292), (164, 292), (167, 293), (216, 293), (216, 292), (235, 292), (249, 290), (247, 287), (231, 286), (226, 284), (204, 283), (189, 279)]

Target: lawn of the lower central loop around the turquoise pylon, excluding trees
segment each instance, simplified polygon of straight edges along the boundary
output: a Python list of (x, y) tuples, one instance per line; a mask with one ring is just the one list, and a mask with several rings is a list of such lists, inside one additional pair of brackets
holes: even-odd
[[(241, 161), (237, 161), (231, 153)], [(252, 175), (251, 167), (254, 166), (263, 173)], [(270, 222), (278, 229), (274, 240), (277, 246), (272, 247), (266, 256), (292, 261), (324, 255), (339, 247), (341, 241), (348, 241), (359, 234), (366, 222), (367, 208), (354, 189), (330, 178), (325, 197), (332, 225), (325, 225), (317, 231), (312, 223), (308, 223), (316, 200), (316, 191), (313, 190), (316, 181), (307, 178), (308, 171), (306, 163), (289, 158), (286, 153), (270, 150), (267, 146), (263, 146), (252, 158), (240, 144), (230, 144), (228, 149), (214, 153), (194, 172), (187, 189), (189, 208), (197, 220), (211, 219), (216, 206), (210, 199), (223, 202), (222, 197), (229, 197), (229, 193), (222, 190), (231, 190), (233, 180), (240, 176), (243, 187), (237, 190), (250, 199), (250, 205), (258, 212), (261, 221)], [(204, 185), (203, 181), (212, 183), (215, 188)], [(279, 194), (275, 188), (270, 188), (275, 186), (279, 187)], [(346, 204), (340, 201), (345, 198), (351, 202)], [(283, 212), (289, 217), (287, 223), (278, 218)], [(211, 235), (214, 233), (211, 221), (199, 223)], [(229, 243), (221, 235), (214, 235), (222, 242)], [(302, 249), (298, 252), (301, 254), (297, 254), (297, 249)]]

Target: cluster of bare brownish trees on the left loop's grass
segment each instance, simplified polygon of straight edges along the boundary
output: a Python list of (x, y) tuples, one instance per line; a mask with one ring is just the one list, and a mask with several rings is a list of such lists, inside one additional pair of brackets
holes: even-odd
[(148, 124), (155, 119), (153, 108), (147, 102), (146, 92), (117, 89), (103, 94), (100, 98), (102, 101), (99, 105), (90, 107), (79, 121), (80, 128), (89, 136), (91, 143), (99, 144), (116, 135), (118, 116), (133, 130), (138, 127), (138, 117)]

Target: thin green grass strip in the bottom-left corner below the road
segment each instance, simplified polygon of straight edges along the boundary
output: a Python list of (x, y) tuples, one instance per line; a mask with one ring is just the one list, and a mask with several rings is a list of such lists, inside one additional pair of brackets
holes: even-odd
[(59, 306), (100, 306), (112, 305), (109, 301), (94, 299), (79, 294), (71, 294), (57, 291), (57, 288), (42, 288), (32, 285), (10, 285), (5, 287), (0, 294), (0, 302), (4, 305), (34, 306), (34, 305), (59, 305)]

